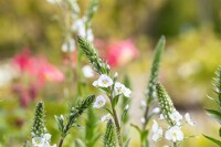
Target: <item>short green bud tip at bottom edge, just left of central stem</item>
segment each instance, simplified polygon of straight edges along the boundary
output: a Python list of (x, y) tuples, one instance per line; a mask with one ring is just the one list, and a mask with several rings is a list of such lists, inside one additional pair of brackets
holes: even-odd
[(106, 126), (104, 147), (117, 147), (116, 128), (112, 119), (108, 120)]

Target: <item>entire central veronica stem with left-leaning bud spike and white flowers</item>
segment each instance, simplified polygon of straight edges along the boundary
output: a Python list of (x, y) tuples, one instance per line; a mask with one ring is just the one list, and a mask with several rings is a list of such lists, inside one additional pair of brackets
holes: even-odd
[[(122, 119), (124, 119), (124, 116), (122, 116), (119, 119), (119, 116), (116, 112), (116, 106), (118, 104), (118, 99), (122, 95), (129, 97), (131, 91), (127, 88), (124, 84), (117, 82), (118, 75), (117, 73), (114, 75), (114, 77), (110, 77), (110, 67), (107, 63), (105, 63), (101, 57), (98, 57), (98, 54), (96, 53), (96, 50), (94, 46), (84, 38), (77, 36), (80, 48), (82, 52), (85, 54), (85, 56), (88, 59), (88, 61), (94, 66), (94, 70), (99, 74), (99, 77), (97, 81), (93, 83), (93, 86), (102, 90), (105, 92), (106, 97), (108, 97), (108, 101), (110, 103), (110, 108), (104, 107), (106, 99), (104, 96), (97, 96), (96, 102), (94, 103), (94, 107), (101, 108), (104, 107), (108, 114), (102, 117), (102, 120), (109, 119), (109, 116), (114, 119), (114, 125), (116, 126), (116, 134), (117, 134), (117, 144), (118, 146), (123, 147), (123, 138), (122, 138)], [(128, 111), (128, 106), (125, 107), (125, 114)]]

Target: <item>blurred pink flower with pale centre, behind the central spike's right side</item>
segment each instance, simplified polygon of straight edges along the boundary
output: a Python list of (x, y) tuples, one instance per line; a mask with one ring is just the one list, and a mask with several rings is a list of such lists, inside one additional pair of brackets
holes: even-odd
[(124, 66), (139, 54), (133, 40), (109, 43), (106, 50), (106, 59), (110, 66)]

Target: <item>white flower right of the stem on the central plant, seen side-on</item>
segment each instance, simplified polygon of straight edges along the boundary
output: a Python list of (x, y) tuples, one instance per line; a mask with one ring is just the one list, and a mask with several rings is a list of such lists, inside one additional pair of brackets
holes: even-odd
[(129, 95), (131, 94), (131, 91), (125, 87), (125, 85), (119, 82), (115, 83), (114, 90), (115, 90), (115, 96), (124, 94), (124, 96), (129, 97)]

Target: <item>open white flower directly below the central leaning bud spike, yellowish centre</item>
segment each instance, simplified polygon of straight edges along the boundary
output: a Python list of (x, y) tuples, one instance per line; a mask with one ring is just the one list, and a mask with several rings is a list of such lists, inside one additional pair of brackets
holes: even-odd
[(108, 87), (113, 85), (113, 80), (106, 74), (102, 74), (97, 81), (93, 83), (94, 86)]

